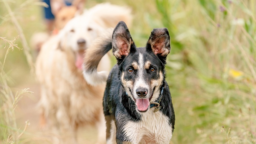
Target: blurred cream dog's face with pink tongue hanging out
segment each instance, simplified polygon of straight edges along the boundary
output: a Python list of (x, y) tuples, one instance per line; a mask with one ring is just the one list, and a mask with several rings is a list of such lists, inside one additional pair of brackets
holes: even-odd
[(60, 31), (60, 46), (72, 50), (75, 54), (75, 65), (82, 69), (84, 51), (98, 37), (103, 27), (93, 17), (79, 15), (71, 19)]

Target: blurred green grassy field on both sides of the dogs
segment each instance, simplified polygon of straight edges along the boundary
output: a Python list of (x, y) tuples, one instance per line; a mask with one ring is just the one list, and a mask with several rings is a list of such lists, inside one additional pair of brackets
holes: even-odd
[[(169, 29), (166, 72), (176, 116), (172, 144), (256, 143), (256, 1), (87, 0), (85, 7), (100, 2), (133, 9), (129, 29), (139, 47), (153, 28)], [(19, 105), (17, 87), (35, 81), (26, 43), (45, 29), (39, 5), (34, 0), (0, 0), (0, 37), (13, 45), (10, 40), (19, 35), (14, 44), (23, 49), (14, 46), (3, 67), (9, 43), (0, 39), (0, 143), (26, 143), (23, 137), (32, 135), (20, 135), (26, 125), (17, 126), (13, 109)], [(33, 95), (27, 92), (23, 89), (21, 96)]]

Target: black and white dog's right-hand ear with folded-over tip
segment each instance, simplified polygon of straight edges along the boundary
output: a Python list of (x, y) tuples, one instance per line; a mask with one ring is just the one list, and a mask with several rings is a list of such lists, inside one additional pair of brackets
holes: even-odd
[(166, 57), (170, 53), (170, 36), (167, 28), (154, 28), (146, 46), (157, 56)]

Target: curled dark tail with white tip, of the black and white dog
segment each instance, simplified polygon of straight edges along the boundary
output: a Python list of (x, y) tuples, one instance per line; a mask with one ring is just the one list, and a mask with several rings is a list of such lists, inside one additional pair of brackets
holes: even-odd
[(112, 33), (112, 28), (107, 29), (85, 51), (83, 74), (91, 85), (98, 85), (107, 80), (108, 71), (97, 72), (97, 67), (101, 58), (112, 49)]

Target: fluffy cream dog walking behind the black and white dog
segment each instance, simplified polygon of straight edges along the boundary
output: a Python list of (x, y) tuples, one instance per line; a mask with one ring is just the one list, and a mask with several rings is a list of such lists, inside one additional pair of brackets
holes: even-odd
[[(131, 22), (126, 7), (99, 4), (71, 19), (58, 35), (43, 46), (36, 62), (36, 75), (41, 85), (40, 107), (47, 124), (57, 133), (54, 143), (75, 144), (77, 128), (95, 125), (97, 143), (106, 142), (102, 98), (105, 84), (92, 86), (82, 74), (84, 50), (108, 27), (120, 20)], [(99, 71), (109, 71), (105, 55)]]

